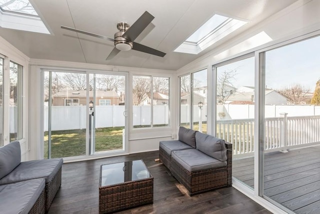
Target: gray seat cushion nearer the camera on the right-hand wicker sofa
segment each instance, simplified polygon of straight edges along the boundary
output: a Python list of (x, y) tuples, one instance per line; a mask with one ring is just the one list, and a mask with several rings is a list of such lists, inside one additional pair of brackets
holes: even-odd
[(172, 151), (171, 157), (191, 172), (226, 166), (226, 161), (217, 160), (195, 148)]

